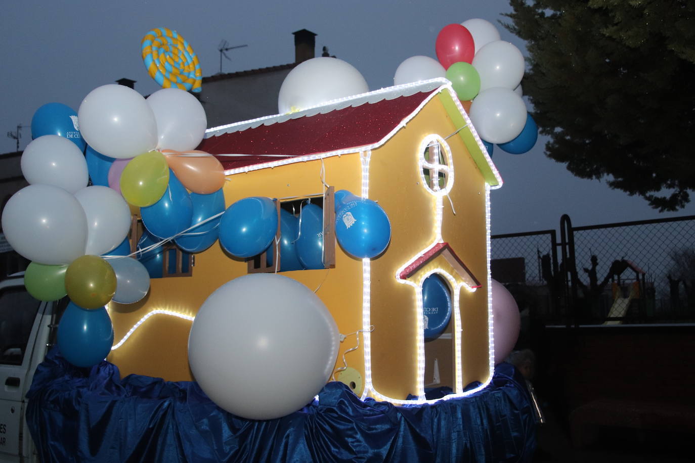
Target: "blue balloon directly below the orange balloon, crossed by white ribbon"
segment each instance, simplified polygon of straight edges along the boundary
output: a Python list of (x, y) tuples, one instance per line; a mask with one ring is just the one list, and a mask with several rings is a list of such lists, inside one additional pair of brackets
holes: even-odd
[[(224, 212), (224, 194), (222, 188), (211, 194), (190, 194), (190, 201), (193, 203), (193, 220), (190, 226), (199, 224), (200, 222), (213, 217), (220, 212)], [(193, 228), (193, 230), (184, 233), (174, 239), (177, 246), (188, 251), (189, 253), (199, 253), (205, 251), (217, 241), (220, 235), (220, 219), (212, 219), (204, 224)]]

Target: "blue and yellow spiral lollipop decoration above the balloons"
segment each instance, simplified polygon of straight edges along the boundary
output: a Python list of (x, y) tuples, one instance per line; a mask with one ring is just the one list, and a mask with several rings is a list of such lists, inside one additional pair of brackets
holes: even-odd
[(160, 27), (142, 38), (142, 60), (149, 75), (164, 88), (200, 92), (202, 71), (190, 44), (176, 31)]

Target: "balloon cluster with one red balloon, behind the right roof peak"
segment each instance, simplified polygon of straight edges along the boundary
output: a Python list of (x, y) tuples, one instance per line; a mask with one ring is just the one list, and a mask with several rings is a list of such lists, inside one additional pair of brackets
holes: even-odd
[(445, 77), (490, 154), (493, 144), (512, 154), (532, 149), (538, 128), (521, 99), (521, 51), (500, 40), (493, 24), (478, 18), (442, 28), (435, 51), (439, 62), (427, 56), (404, 60), (394, 83)]

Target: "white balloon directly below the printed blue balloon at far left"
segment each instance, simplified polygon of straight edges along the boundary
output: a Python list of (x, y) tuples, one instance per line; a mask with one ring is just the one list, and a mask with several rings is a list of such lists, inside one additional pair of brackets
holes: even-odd
[(20, 161), (31, 185), (40, 183), (74, 193), (87, 186), (87, 161), (76, 144), (58, 135), (43, 135), (29, 143)]

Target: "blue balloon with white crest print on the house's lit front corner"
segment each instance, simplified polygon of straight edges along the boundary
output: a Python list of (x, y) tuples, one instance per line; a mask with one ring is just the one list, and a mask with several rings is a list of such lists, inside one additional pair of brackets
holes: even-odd
[(347, 190), (335, 194), (336, 238), (356, 258), (375, 258), (391, 241), (391, 222), (380, 205)]

